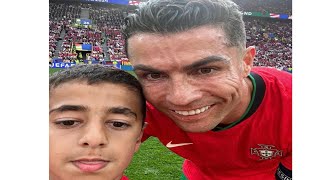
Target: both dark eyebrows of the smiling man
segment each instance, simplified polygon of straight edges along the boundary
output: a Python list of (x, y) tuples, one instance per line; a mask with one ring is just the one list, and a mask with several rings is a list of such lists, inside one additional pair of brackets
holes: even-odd
[[(194, 63), (190, 64), (190, 65), (186, 65), (185, 67), (183, 67), (183, 70), (191, 70), (209, 63), (213, 63), (213, 62), (218, 62), (218, 61), (223, 61), (225, 63), (230, 63), (230, 59), (226, 59), (224, 57), (221, 56), (208, 56), (202, 59), (199, 59), (197, 61), (195, 61)], [(144, 64), (137, 64), (133, 67), (134, 71), (140, 70), (140, 71), (148, 71), (148, 72), (153, 72), (153, 73), (162, 73), (162, 71), (155, 69), (151, 66), (148, 65), (144, 65)]]

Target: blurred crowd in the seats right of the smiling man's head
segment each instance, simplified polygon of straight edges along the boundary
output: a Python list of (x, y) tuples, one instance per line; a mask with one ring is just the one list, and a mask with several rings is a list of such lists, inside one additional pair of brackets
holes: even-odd
[(256, 47), (255, 66), (292, 68), (291, 20), (246, 18), (247, 46)]

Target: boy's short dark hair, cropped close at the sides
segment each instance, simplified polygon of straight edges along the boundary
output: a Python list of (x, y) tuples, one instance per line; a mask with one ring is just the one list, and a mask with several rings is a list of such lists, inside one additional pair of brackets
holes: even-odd
[(59, 85), (71, 81), (85, 81), (88, 85), (112, 83), (126, 86), (129, 90), (136, 92), (140, 96), (142, 125), (144, 124), (146, 99), (139, 81), (130, 73), (101, 64), (75, 65), (50, 75), (49, 93)]

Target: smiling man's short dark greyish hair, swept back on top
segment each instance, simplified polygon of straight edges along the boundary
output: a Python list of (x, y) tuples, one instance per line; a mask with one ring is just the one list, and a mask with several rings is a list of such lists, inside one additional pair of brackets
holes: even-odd
[(122, 32), (127, 47), (135, 34), (176, 33), (205, 25), (220, 27), (228, 46), (245, 48), (242, 13), (231, 0), (149, 0), (125, 18)]

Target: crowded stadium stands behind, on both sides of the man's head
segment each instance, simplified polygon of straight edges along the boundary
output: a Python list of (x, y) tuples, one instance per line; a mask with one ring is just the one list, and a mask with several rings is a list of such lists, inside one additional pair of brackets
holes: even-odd
[[(247, 46), (255, 46), (257, 49), (254, 65), (291, 70), (292, 1), (234, 2), (247, 12), (244, 14)], [(120, 29), (124, 17), (134, 8), (131, 5), (84, 0), (49, 1), (49, 64), (112, 64), (113, 61), (128, 61)], [(79, 25), (77, 19), (88, 19), (91, 23)], [(79, 51), (78, 44), (89, 44), (91, 49)]]

